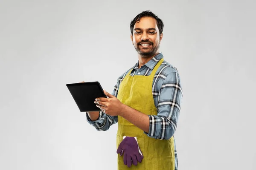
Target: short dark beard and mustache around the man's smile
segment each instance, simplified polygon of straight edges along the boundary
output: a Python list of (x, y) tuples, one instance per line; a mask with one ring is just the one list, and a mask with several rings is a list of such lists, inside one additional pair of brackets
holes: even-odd
[[(141, 50), (140, 49), (140, 43), (143, 43), (143, 42), (146, 42), (146, 43), (150, 43), (151, 44), (151, 47), (148, 48), (147, 50)], [(137, 51), (138, 54), (140, 54), (142, 57), (152, 57), (157, 51), (158, 49), (160, 48), (160, 42), (158, 43), (157, 46), (154, 47), (154, 43), (153, 42), (150, 42), (150, 41), (141, 41), (141, 42), (138, 42), (137, 43), (137, 46), (134, 46), (135, 50)]]

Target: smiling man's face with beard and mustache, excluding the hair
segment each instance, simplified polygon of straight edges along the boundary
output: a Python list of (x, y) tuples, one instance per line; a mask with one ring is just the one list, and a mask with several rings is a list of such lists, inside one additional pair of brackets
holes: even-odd
[(140, 22), (134, 25), (131, 40), (142, 57), (151, 57), (158, 52), (162, 36), (157, 27), (157, 20), (153, 17), (142, 17)]

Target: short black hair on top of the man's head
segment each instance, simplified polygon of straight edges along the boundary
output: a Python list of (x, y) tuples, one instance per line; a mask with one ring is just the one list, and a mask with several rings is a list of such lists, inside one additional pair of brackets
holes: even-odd
[(163, 32), (163, 21), (158, 18), (153, 12), (147, 10), (147, 11), (142, 11), (140, 14), (138, 14), (130, 23), (130, 29), (131, 29), (131, 34), (133, 34), (133, 29), (134, 25), (137, 22), (140, 22), (140, 18), (142, 17), (153, 17), (154, 19), (157, 20), (157, 27), (159, 29), (160, 34)]

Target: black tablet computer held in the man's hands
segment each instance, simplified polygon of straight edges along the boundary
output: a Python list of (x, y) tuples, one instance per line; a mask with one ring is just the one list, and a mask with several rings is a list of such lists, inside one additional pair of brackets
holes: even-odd
[(79, 82), (66, 85), (80, 112), (101, 111), (94, 103), (98, 97), (106, 97), (99, 82)]

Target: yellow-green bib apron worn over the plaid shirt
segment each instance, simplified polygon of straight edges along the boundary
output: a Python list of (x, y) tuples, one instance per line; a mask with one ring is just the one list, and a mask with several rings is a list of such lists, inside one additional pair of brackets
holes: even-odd
[[(125, 105), (136, 109), (144, 114), (157, 115), (152, 95), (152, 83), (157, 68), (163, 62), (163, 58), (155, 65), (150, 76), (134, 75), (131, 71), (122, 80), (117, 98)], [(132, 69), (131, 69), (132, 70)], [(118, 116), (118, 130), (116, 135), (116, 149), (122, 142), (123, 136), (137, 136), (138, 144), (143, 153), (142, 162), (131, 167), (123, 162), (123, 155), (118, 154), (118, 170), (174, 170), (174, 138), (160, 140), (148, 137), (143, 130), (131, 124), (126, 119)]]

